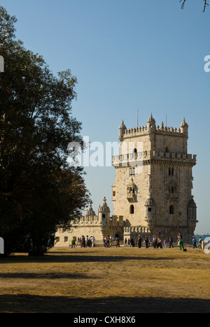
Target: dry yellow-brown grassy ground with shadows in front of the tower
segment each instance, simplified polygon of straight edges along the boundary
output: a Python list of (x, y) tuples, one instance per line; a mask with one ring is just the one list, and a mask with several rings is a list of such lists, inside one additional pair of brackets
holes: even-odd
[(207, 313), (202, 249), (52, 248), (0, 258), (1, 313)]

